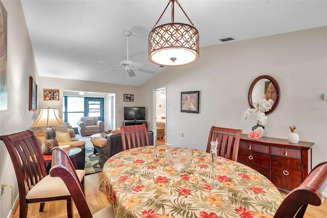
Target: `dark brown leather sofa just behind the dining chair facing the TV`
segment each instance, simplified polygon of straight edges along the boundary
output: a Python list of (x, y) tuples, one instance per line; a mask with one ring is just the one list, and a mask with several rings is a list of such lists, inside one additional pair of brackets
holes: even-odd
[[(153, 145), (153, 132), (148, 131), (149, 144)], [(91, 139), (93, 146), (98, 151), (99, 164), (101, 167), (113, 155), (123, 150), (122, 134), (115, 130), (107, 136), (107, 139), (102, 137), (94, 137)]]

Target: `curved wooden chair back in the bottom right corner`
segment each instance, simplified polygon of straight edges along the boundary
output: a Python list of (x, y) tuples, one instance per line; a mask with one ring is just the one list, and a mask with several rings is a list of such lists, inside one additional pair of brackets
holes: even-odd
[(327, 161), (324, 161), (315, 166), (305, 181), (285, 197), (274, 218), (303, 217), (308, 204), (321, 205), (323, 201), (322, 191), (326, 185)]

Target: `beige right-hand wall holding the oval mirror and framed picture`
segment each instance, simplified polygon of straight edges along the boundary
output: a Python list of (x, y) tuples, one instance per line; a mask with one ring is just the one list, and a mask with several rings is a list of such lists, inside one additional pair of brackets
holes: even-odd
[[(327, 27), (322, 27), (201, 48), (197, 62), (168, 67), (143, 84), (140, 104), (151, 108), (146, 99), (166, 86), (167, 143), (205, 150), (212, 125), (251, 132), (255, 118), (243, 118), (248, 89), (256, 77), (270, 75), (280, 86), (281, 99), (268, 115), (264, 135), (287, 139), (289, 126), (296, 125), (301, 141), (315, 142), (315, 166), (327, 160), (327, 101), (322, 98), (327, 93), (326, 38)], [(199, 114), (181, 113), (180, 92), (197, 90)], [(153, 128), (153, 121), (148, 123)]]

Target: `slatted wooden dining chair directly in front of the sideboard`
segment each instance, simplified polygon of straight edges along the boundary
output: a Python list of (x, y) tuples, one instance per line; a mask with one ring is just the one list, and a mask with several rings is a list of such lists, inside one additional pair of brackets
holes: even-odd
[(242, 129), (231, 129), (212, 126), (209, 132), (206, 152), (209, 153), (211, 151), (210, 142), (217, 141), (217, 155), (233, 161), (237, 161), (241, 133)]

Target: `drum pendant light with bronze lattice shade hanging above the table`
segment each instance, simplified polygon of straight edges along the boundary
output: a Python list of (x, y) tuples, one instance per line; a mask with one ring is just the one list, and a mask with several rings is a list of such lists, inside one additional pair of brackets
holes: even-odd
[[(174, 23), (174, 2), (192, 24), (190, 18), (177, 0), (169, 0), (164, 12), (149, 33), (148, 57), (149, 60), (161, 66), (182, 66), (199, 59), (199, 31), (194, 25)], [(172, 4), (171, 23), (156, 27), (168, 6)]]

